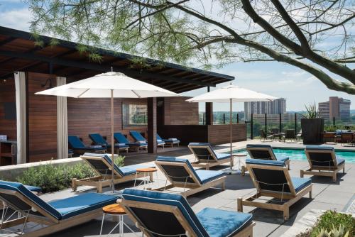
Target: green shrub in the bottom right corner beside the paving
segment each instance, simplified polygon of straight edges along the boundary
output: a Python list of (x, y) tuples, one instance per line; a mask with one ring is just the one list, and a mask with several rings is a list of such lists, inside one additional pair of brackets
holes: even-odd
[(350, 214), (326, 211), (312, 229), (297, 237), (355, 237), (355, 218)]

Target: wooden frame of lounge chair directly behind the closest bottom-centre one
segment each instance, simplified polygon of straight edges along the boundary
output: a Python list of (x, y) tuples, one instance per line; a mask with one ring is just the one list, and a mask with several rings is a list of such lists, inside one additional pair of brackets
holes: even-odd
[[(181, 192), (180, 194), (182, 194), (184, 197), (188, 197), (192, 194), (196, 194), (197, 192), (201, 192), (203, 190), (209, 189), (210, 187), (215, 187), (219, 184), (221, 185), (221, 188), (223, 190), (226, 188), (225, 186), (226, 176), (219, 177), (216, 180), (207, 182), (206, 184), (201, 184), (200, 181), (197, 179), (195, 173), (192, 172), (192, 170), (190, 170), (190, 167), (187, 165), (186, 162), (155, 161), (155, 165), (157, 165), (157, 167), (159, 167), (160, 170), (163, 171), (163, 174), (165, 175), (165, 177), (167, 177), (167, 181), (170, 182), (169, 185), (167, 185), (165, 182), (165, 187), (160, 187), (158, 189), (155, 189), (155, 191), (171, 192), (171, 190), (169, 189), (173, 189), (174, 187), (181, 187), (184, 189), (184, 191)], [(162, 165), (174, 165), (174, 166), (184, 167), (186, 172), (189, 174), (189, 176), (181, 177), (181, 178), (186, 178), (187, 180), (187, 178), (190, 177), (192, 180), (194, 180), (194, 183), (174, 181), (171, 178), (171, 176), (168, 174), (168, 172), (166, 172), (166, 170), (162, 167)]]

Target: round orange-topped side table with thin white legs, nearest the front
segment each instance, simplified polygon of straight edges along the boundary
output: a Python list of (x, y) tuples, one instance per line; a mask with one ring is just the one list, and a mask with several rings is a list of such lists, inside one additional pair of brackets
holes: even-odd
[(119, 236), (124, 236), (124, 226), (129, 228), (129, 230), (136, 235), (136, 233), (131, 229), (131, 227), (129, 227), (126, 223), (124, 223), (124, 216), (126, 215), (126, 211), (124, 211), (124, 209), (120, 204), (111, 204), (111, 205), (104, 206), (102, 208), (102, 211), (104, 212), (104, 214), (102, 215), (100, 236), (102, 236), (102, 227), (104, 226), (105, 215), (119, 217), (119, 223), (116, 224), (116, 226), (114, 226), (114, 228), (111, 229), (111, 231), (107, 234), (107, 236), (109, 236), (117, 227), (119, 227)]

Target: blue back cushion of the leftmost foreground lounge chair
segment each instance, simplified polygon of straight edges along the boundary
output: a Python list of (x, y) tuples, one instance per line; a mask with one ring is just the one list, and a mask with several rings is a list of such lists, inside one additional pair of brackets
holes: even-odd
[(37, 195), (33, 194), (33, 192), (28, 190), (23, 184), (19, 182), (0, 181), (0, 189), (16, 191), (22, 194), (23, 197), (30, 199), (32, 202), (40, 206), (43, 210), (47, 211), (47, 213), (53, 216), (55, 219), (60, 220), (62, 218), (62, 215), (59, 211), (54, 209), (53, 206), (51, 206), (50, 204), (44, 202), (42, 199), (40, 199)]

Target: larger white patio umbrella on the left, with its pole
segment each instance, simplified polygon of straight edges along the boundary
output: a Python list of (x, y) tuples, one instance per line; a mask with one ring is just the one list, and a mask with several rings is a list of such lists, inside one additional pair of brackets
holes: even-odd
[(112, 192), (114, 192), (114, 98), (180, 97), (120, 72), (107, 72), (35, 94), (74, 98), (111, 98)]

